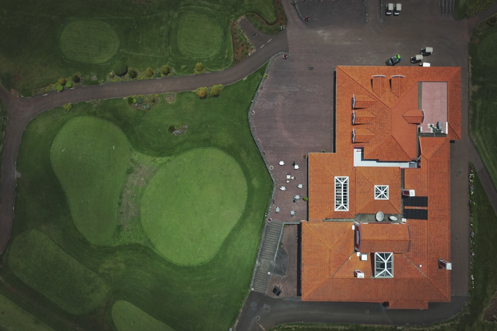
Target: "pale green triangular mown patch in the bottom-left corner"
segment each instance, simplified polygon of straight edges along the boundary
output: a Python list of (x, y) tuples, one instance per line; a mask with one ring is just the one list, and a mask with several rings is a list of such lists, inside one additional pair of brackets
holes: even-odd
[(0, 330), (9, 331), (52, 331), (46, 324), (0, 295)]

